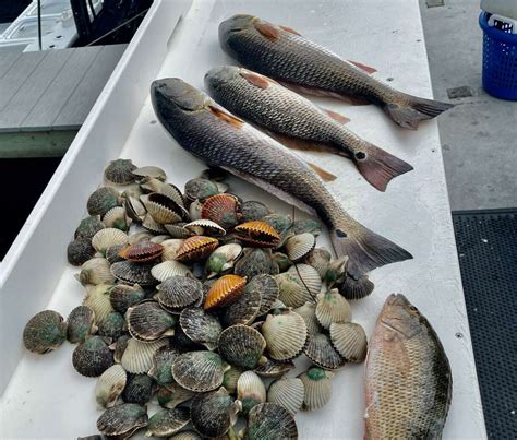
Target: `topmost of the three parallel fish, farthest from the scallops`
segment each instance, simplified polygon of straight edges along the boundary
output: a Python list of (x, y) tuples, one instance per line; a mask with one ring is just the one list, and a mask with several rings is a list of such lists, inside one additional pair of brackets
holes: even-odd
[(220, 23), (219, 43), (228, 55), (253, 71), (308, 94), (376, 104), (407, 129), (416, 130), (421, 120), (453, 107), (398, 92), (365, 72), (374, 69), (346, 61), (290, 27), (256, 16), (233, 15)]

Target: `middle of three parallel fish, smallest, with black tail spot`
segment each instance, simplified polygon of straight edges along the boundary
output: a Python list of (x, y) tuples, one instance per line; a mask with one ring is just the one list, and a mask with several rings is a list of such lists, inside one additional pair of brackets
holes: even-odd
[(288, 147), (329, 151), (349, 157), (380, 191), (394, 177), (413, 169), (346, 129), (339, 115), (320, 109), (267, 76), (225, 66), (205, 75), (205, 86), (223, 107), (266, 129)]

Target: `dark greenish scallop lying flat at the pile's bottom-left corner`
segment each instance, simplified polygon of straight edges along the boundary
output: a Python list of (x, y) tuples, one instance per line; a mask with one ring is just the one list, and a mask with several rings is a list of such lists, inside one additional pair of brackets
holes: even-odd
[(97, 419), (97, 429), (105, 436), (129, 438), (147, 425), (147, 409), (135, 403), (123, 403), (106, 409)]

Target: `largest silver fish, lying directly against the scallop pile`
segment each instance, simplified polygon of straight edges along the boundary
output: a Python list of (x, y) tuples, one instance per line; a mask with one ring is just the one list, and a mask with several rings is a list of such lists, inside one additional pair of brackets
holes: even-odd
[(203, 92), (172, 78), (154, 81), (151, 96), (161, 124), (189, 153), (317, 214), (329, 229), (336, 253), (349, 257), (352, 276), (412, 258), (350, 217), (299, 157)]

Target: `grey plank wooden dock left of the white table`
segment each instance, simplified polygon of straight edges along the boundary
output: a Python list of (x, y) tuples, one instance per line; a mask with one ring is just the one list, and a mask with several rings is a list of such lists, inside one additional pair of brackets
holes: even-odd
[(62, 156), (127, 45), (0, 57), (0, 158)]

